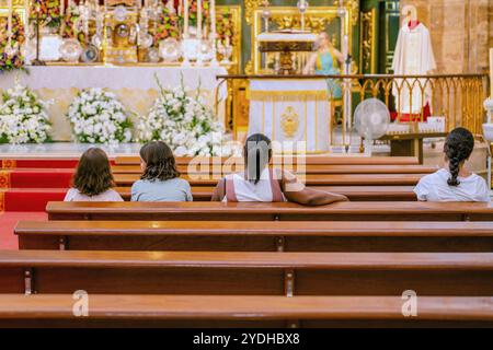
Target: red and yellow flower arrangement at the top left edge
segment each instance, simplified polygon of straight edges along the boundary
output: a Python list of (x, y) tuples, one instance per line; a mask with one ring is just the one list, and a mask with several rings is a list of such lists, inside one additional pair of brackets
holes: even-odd
[(21, 45), (24, 43), (24, 26), (18, 12), (12, 14), (12, 39), (9, 47), (9, 24), (7, 18), (0, 18), (0, 72), (24, 69)]

